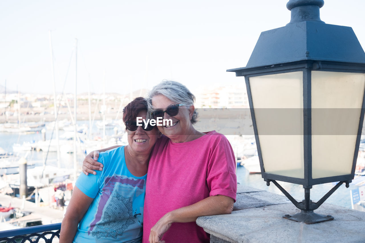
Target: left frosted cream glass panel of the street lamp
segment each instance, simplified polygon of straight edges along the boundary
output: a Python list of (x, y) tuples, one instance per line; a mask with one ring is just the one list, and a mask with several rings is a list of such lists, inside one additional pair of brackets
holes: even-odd
[(249, 78), (266, 173), (304, 178), (303, 72)]

